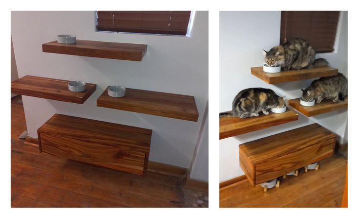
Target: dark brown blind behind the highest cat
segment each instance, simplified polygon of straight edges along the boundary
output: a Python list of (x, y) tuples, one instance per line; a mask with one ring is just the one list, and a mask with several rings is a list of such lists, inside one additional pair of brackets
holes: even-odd
[(317, 53), (334, 51), (339, 11), (282, 11), (280, 43), (303, 38)]

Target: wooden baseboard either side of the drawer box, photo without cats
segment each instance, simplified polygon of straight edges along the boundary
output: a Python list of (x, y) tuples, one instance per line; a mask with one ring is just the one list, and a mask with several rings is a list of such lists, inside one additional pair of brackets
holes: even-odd
[[(26, 136), (25, 144), (39, 146), (39, 139)], [(147, 171), (180, 178), (185, 178), (187, 176), (186, 168), (153, 161), (148, 161)]]

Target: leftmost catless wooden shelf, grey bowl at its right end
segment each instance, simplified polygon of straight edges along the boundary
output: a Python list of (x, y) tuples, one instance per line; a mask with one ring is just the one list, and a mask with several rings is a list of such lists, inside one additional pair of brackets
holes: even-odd
[(11, 93), (83, 104), (96, 91), (96, 84), (86, 83), (82, 92), (68, 90), (67, 80), (26, 75), (11, 82)]

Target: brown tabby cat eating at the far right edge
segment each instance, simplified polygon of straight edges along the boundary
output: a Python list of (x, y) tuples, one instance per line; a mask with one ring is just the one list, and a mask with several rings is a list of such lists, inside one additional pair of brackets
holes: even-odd
[(342, 73), (335, 76), (321, 77), (314, 80), (312, 84), (303, 90), (301, 99), (304, 101), (313, 101), (320, 103), (323, 99), (334, 98), (336, 103), (343, 101), (348, 93), (348, 80)]

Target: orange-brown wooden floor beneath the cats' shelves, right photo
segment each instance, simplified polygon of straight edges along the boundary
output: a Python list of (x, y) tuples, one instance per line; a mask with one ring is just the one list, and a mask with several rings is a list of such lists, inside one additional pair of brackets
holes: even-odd
[(280, 178), (280, 186), (263, 192), (247, 179), (220, 189), (220, 207), (340, 207), (347, 158), (335, 155), (319, 162), (319, 170), (299, 170)]

